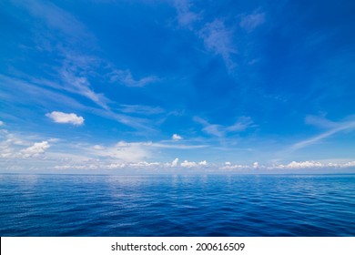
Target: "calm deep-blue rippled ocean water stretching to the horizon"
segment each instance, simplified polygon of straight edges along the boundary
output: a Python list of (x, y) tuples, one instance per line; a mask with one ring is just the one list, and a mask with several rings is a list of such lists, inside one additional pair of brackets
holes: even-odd
[(0, 175), (1, 236), (355, 236), (355, 175)]

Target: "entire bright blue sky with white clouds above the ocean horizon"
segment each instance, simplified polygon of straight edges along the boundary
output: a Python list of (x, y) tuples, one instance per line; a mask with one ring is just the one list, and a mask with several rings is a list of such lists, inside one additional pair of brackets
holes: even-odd
[(3, 0), (2, 172), (355, 172), (351, 0)]

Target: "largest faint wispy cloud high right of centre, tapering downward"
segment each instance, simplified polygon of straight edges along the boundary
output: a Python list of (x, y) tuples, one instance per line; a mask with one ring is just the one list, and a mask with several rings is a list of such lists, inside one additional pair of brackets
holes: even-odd
[(236, 46), (233, 44), (233, 30), (227, 28), (220, 19), (207, 23), (198, 32), (198, 36), (203, 39), (206, 48), (222, 56), (229, 70), (235, 68), (232, 55), (237, 54)]

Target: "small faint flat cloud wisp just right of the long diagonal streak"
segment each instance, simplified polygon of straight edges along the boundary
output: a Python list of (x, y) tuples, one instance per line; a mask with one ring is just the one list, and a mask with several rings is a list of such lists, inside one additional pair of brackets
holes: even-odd
[(147, 84), (155, 83), (159, 80), (157, 76), (135, 79), (130, 70), (115, 70), (110, 74), (111, 82), (119, 82), (127, 87), (145, 87)]

